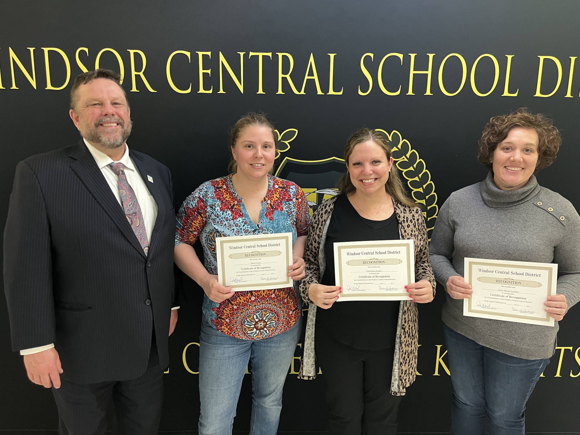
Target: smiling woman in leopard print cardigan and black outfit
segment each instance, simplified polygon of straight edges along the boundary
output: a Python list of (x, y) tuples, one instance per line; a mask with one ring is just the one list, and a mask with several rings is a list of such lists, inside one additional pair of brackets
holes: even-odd
[[(366, 148), (365, 148), (366, 147)], [(367, 150), (368, 148), (368, 150)], [(368, 153), (366, 155), (370, 157), (365, 157), (365, 152)], [(384, 151), (384, 154), (382, 154)], [(361, 154), (362, 153), (362, 154)], [(373, 156), (378, 154), (382, 154), (379, 162), (379, 159)], [(361, 157), (362, 155), (362, 157)], [(355, 159), (356, 157), (356, 159)], [(385, 159), (386, 157), (386, 159)], [(350, 162), (349, 162), (350, 158)], [(365, 161), (365, 158), (367, 161)], [(336, 218), (333, 219), (333, 224), (331, 225), (331, 218), (333, 212), (338, 210), (339, 213), (345, 213), (343, 210), (347, 210), (351, 208), (351, 212), (358, 213), (360, 216), (361, 221), (357, 223), (356, 218), (351, 220), (350, 222), (353, 223), (353, 226), (349, 227), (349, 233), (357, 233), (358, 227), (364, 227), (363, 221), (367, 221), (367, 223), (372, 222), (387, 222), (385, 216), (389, 218), (390, 215), (394, 215), (396, 217), (398, 223), (398, 237), (401, 239), (412, 239), (414, 240), (414, 247), (415, 247), (415, 280), (416, 284), (409, 284), (408, 291), (409, 296), (413, 299), (403, 300), (400, 303), (395, 304), (391, 302), (391, 308), (385, 308), (385, 313), (388, 316), (391, 314), (393, 318), (393, 324), (390, 327), (392, 331), (390, 331), (391, 337), (394, 337), (394, 343), (390, 342), (387, 346), (391, 347), (391, 353), (388, 355), (393, 355), (393, 365), (392, 365), (392, 372), (390, 376), (390, 387), (386, 389), (389, 391), (393, 396), (403, 396), (405, 394), (405, 390), (411, 383), (415, 380), (415, 371), (417, 367), (417, 354), (418, 354), (418, 309), (416, 303), (418, 302), (430, 302), (433, 300), (434, 293), (435, 293), (435, 286), (436, 281), (433, 275), (433, 270), (431, 268), (431, 264), (429, 262), (429, 251), (427, 248), (427, 231), (425, 225), (425, 218), (423, 218), (422, 212), (419, 206), (416, 206), (412, 200), (408, 198), (406, 193), (404, 192), (403, 184), (397, 175), (396, 166), (393, 165), (393, 159), (391, 157), (391, 150), (389, 143), (385, 139), (380, 132), (376, 132), (374, 130), (369, 129), (361, 129), (357, 133), (355, 133), (347, 142), (347, 146), (345, 148), (345, 161), (347, 162), (347, 169), (349, 172), (346, 173), (345, 177), (343, 177), (341, 184), (342, 194), (334, 197), (323, 204), (321, 204), (316, 212), (314, 213), (313, 220), (310, 227), (310, 233), (307, 240), (306, 245), (306, 252), (305, 252), (305, 262), (306, 262), (306, 269), (305, 269), (305, 278), (300, 281), (300, 294), (302, 299), (309, 304), (308, 310), (308, 317), (306, 323), (306, 336), (305, 336), (305, 343), (303, 345), (303, 356), (302, 362), (300, 366), (300, 379), (314, 379), (316, 378), (316, 354), (314, 351), (314, 329), (315, 325), (318, 324), (320, 329), (317, 329), (318, 335), (324, 333), (324, 340), (333, 340), (331, 336), (328, 335), (328, 331), (324, 327), (320, 327), (319, 322), (316, 320), (317, 316), (317, 305), (321, 308), (328, 308), (332, 306), (332, 303), (338, 299), (339, 297), (339, 288), (338, 287), (330, 287), (322, 282), (322, 277), (324, 277), (325, 270), (327, 269), (327, 264), (332, 264), (332, 262), (327, 262), (327, 256), (329, 256), (328, 247), (325, 249), (325, 244), (327, 242), (327, 235), (329, 235), (328, 241), (332, 241), (333, 238), (331, 237), (332, 233), (332, 226), (336, 226)], [(368, 166), (368, 168), (364, 168), (364, 166)], [(357, 179), (358, 176), (358, 179)], [(370, 178), (372, 177), (372, 178)], [(367, 187), (366, 185), (360, 184), (362, 179), (370, 178), (371, 180), (375, 180), (374, 182), (369, 182), (368, 179), (365, 179), (365, 184), (373, 184), (379, 183), (378, 188), (375, 187), (373, 190), (372, 187)], [(346, 180), (345, 180), (346, 179)], [(387, 192), (386, 201), (389, 202), (390, 212), (385, 211), (386, 206), (383, 205), (383, 214), (380, 215), (380, 212), (377, 211), (380, 207), (375, 207), (374, 210), (376, 211), (376, 215), (371, 215), (374, 213), (373, 211), (369, 211), (372, 209), (367, 208), (365, 211), (364, 206), (359, 207), (356, 198), (352, 199), (354, 193), (356, 193), (357, 186), (360, 189), (360, 194), (377, 194), (378, 193), (378, 201), (385, 201), (383, 198), (384, 191), (378, 189), (383, 189), (383, 183), (385, 185), (385, 190)], [(393, 186), (394, 184), (394, 186)], [(354, 191), (354, 193), (353, 193)], [(363, 192), (364, 191), (364, 192)], [(369, 199), (367, 195), (367, 200)], [(358, 195), (358, 201), (362, 202), (365, 198), (362, 198)], [(389, 201), (392, 199), (392, 201)], [(338, 205), (337, 205), (338, 204)], [(373, 204), (372, 201), (369, 201), (369, 204)], [(336, 209), (335, 209), (336, 205)], [(393, 210), (394, 209), (394, 210)], [(365, 214), (370, 216), (371, 219), (365, 219)], [(357, 216), (352, 215), (351, 216)], [(357, 217), (358, 217), (357, 216)], [(345, 221), (343, 221), (345, 222)], [(346, 221), (348, 222), (348, 221)], [(329, 232), (329, 227), (331, 227), (331, 231)], [(368, 229), (366, 230), (368, 231)], [(396, 227), (391, 229), (391, 231), (396, 231)], [(336, 233), (336, 232), (335, 232)], [(334, 234), (335, 234), (334, 233)], [(368, 234), (368, 233), (367, 233)], [(395, 233), (396, 234), (396, 233)], [(392, 238), (396, 238), (392, 237)], [(370, 239), (364, 239), (370, 240)], [(332, 266), (330, 266), (332, 267)], [(333, 281), (333, 280), (332, 280)], [(420, 283), (419, 283), (420, 282)], [(318, 288), (325, 288), (324, 291), (328, 291), (328, 293), (314, 293), (312, 286), (318, 286)], [(422, 287), (422, 292), (415, 291)], [(406, 287), (407, 288), (407, 287)], [(310, 289), (310, 293), (309, 293)], [(413, 289), (413, 290), (411, 290)], [(331, 293), (330, 291), (333, 290), (335, 292)], [(422, 293), (421, 296), (419, 294)], [(337, 295), (335, 298), (329, 298), (329, 296)], [(316, 295), (316, 296), (314, 296)], [(328, 298), (324, 299), (322, 302), (322, 297)], [(314, 301), (312, 300), (314, 299)], [(319, 300), (320, 299), (320, 300)], [(327, 302), (331, 302), (327, 304)], [(324, 303), (324, 305), (322, 305)], [(350, 309), (351, 307), (354, 308), (353, 304), (356, 302), (349, 302), (347, 304), (340, 304), (340, 309)], [(367, 304), (371, 304), (366, 302)], [(367, 307), (370, 307), (367, 305)], [(393, 311), (394, 307), (394, 311)], [(360, 306), (358, 306), (360, 309)], [(376, 311), (376, 306), (375, 306)], [(336, 308), (335, 308), (336, 310)], [(363, 308), (366, 313), (366, 309)], [(382, 308), (381, 308), (382, 310)], [(390, 311), (389, 311), (390, 310)], [(344, 311), (343, 311), (344, 312)], [(318, 311), (319, 317), (321, 320), (322, 314), (326, 315), (325, 311)], [(354, 311), (352, 314), (360, 315), (359, 311)], [(397, 317), (398, 316), (398, 317)], [(359, 316), (360, 317), (360, 316)], [(343, 317), (344, 318), (344, 317)], [(396, 320), (396, 327), (394, 325)], [(342, 319), (341, 319), (342, 321)], [(356, 321), (356, 320), (354, 320)], [(336, 323), (335, 323), (336, 324)], [(396, 328), (396, 331), (395, 331)], [(370, 333), (376, 332), (375, 336), (379, 336), (381, 331), (372, 331)], [(388, 333), (387, 333), (388, 335)], [(320, 337), (317, 337), (317, 346), (320, 346)], [(339, 339), (340, 340), (340, 339)], [(374, 340), (374, 338), (368, 338), (367, 335), (367, 343), (369, 340)], [(339, 342), (335, 342), (336, 345), (341, 346)], [(324, 342), (324, 344), (326, 344)], [(352, 349), (353, 346), (350, 347)], [(357, 349), (365, 349), (365, 347), (357, 347), (354, 346), (354, 351)], [(369, 347), (367, 347), (369, 349)], [(380, 349), (380, 348), (379, 348)], [(346, 350), (346, 348), (345, 348)], [(388, 360), (390, 357), (385, 358), (385, 369), (390, 368), (390, 362)], [(322, 361), (320, 351), (318, 354), (318, 360)], [(327, 360), (328, 361), (328, 360)], [(333, 361), (334, 362), (334, 361)], [(341, 362), (336, 361), (336, 364), (340, 364)], [(328, 372), (327, 367), (332, 364), (324, 365), (321, 363), (322, 370), (327, 374)], [(366, 370), (366, 369), (365, 369)], [(329, 371), (329, 370), (328, 370)], [(384, 372), (384, 371), (383, 371)], [(385, 374), (388, 376), (388, 374)], [(386, 383), (388, 383), (388, 378)], [(327, 379), (327, 397), (328, 397), (328, 381)], [(380, 382), (380, 381), (379, 381)], [(367, 385), (365, 384), (365, 389)], [(362, 385), (360, 385), (360, 389), (362, 389)], [(346, 390), (346, 389), (345, 389)], [(345, 393), (342, 390), (339, 390), (342, 394), (349, 394)], [(383, 393), (384, 396), (385, 393)], [(388, 393), (386, 393), (389, 396)], [(366, 399), (366, 397), (365, 397)], [(335, 399), (336, 400), (336, 399)], [(356, 401), (357, 398), (350, 398), (352, 401)], [(384, 400), (384, 399), (383, 399)], [(385, 402), (386, 403), (386, 402)], [(337, 429), (333, 429), (332, 420), (343, 420), (343, 412), (340, 409), (330, 409), (332, 408), (332, 404), (329, 403), (329, 411), (331, 415), (331, 433), (354, 433), (350, 432), (353, 430), (354, 426), (350, 426), (349, 430), (345, 429), (345, 424), (342, 421), (336, 423), (335, 427)], [(366, 405), (360, 405), (361, 408), (364, 408)], [(390, 405), (389, 405), (390, 406)], [(396, 407), (394, 406), (394, 420), (396, 424)], [(350, 412), (350, 411), (349, 411)], [(365, 418), (367, 410), (364, 408)], [(347, 417), (350, 418), (350, 417)], [(382, 417), (381, 417), (382, 418)], [(356, 417), (355, 417), (356, 419)], [(378, 418), (380, 419), (380, 418)], [(351, 424), (351, 423), (348, 423)], [(356, 424), (352, 423), (352, 424)], [(368, 422), (365, 421), (365, 426), (368, 428)], [(385, 424), (380, 423), (380, 424)], [(395, 424), (392, 422), (390, 423), (392, 426), (396, 427)], [(341, 426), (342, 425), (342, 426)], [(340, 426), (340, 429), (338, 427)], [(375, 427), (382, 427), (382, 426), (375, 426)], [(389, 426), (391, 427), (391, 426)], [(394, 429), (396, 430), (396, 429)], [(358, 430), (355, 430), (358, 432)], [(372, 433), (369, 432), (369, 433)], [(390, 432), (389, 432), (390, 433)], [(395, 433), (395, 432), (393, 432)]]

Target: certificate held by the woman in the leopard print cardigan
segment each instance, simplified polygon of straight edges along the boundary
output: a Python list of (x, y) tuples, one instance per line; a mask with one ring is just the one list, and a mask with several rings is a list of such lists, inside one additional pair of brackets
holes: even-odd
[(336, 285), (346, 300), (407, 300), (405, 285), (415, 282), (412, 240), (380, 240), (334, 244)]

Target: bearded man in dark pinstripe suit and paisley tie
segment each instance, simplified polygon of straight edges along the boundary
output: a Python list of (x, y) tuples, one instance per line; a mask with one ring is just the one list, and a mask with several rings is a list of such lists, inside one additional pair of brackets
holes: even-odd
[(28, 378), (52, 387), (60, 433), (157, 434), (173, 294), (171, 173), (130, 150), (119, 75), (71, 89), (79, 143), (16, 168), (4, 233), (12, 347)]

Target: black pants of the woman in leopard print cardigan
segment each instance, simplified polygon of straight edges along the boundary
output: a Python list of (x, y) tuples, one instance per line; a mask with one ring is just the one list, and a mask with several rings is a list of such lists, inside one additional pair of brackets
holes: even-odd
[(318, 326), (314, 337), (326, 383), (329, 435), (395, 435), (401, 397), (389, 393), (393, 348), (357, 350)]

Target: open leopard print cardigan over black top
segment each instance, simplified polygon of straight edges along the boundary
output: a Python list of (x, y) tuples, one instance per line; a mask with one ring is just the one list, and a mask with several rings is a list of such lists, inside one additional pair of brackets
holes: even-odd
[[(308, 297), (308, 287), (310, 284), (318, 283), (324, 275), (326, 265), (324, 244), (335, 201), (336, 197), (331, 198), (318, 207), (312, 218), (306, 243), (304, 255), (306, 276), (300, 281), (300, 295), (309, 305), (309, 309), (300, 374), (298, 375), (300, 379), (314, 379), (317, 373), (316, 353), (314, 351), (314, 326), (317, 307)], [(435, 296), (436, 281), (429, 262), (425, 218), (423, 218), (419, 207), (408, 207), (394, 201), (394, 208), (399, 224), (400, 238), (415, 241), (415, 280), (428, 280), (433, 286), (433, 296)], [(401, 300), (390, 386), (390, 393), (394, 396), (403, 396), (405, 389), (415, 380), (419, 342), (418, 326), (419, 317), (416, 303), (412, 300)]]

